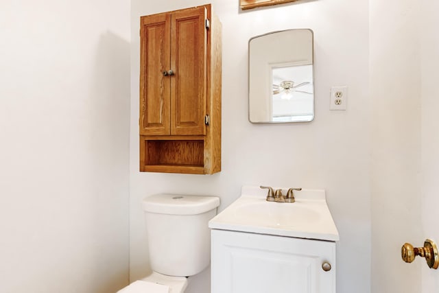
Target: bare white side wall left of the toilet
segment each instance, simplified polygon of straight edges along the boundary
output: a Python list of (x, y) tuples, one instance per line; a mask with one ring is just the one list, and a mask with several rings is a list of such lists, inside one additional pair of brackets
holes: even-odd
[(128, 283), (130, 2), (0, 4), (0, 292)]

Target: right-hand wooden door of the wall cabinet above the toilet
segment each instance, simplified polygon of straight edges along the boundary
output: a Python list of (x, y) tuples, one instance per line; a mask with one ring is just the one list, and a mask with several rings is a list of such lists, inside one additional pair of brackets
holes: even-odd
[(171, 134), (206, 134), (206, 8), (172, 14)]

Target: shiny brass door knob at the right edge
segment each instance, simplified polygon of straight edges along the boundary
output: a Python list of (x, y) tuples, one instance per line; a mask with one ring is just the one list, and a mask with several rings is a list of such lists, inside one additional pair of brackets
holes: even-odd
[(416, 255), (425, 257), (429, 268), (437, 269), (439, 267), (438, 246), (436, 246), (433, 240), (426, 239), (424, 247), (420, 248), (414, 248), (410, 243), (405, 243), (403, 247), (401, 247), (401, 257), (406, 263), (414, 261)]

